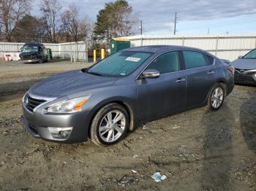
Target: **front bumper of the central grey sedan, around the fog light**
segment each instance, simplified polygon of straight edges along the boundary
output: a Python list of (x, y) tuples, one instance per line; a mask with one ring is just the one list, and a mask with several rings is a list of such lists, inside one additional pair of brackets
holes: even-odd
[[(23, 126), (32, 136), (59, 143), (78, 143), (88, 140), (89, 114), (43, 114), (42, 109), (31, 112), (23, 106)], [(53, 128), (72, 128), (67, 139), (56, 139), (50, 133)]]

